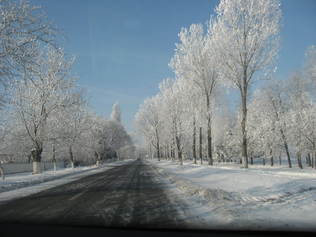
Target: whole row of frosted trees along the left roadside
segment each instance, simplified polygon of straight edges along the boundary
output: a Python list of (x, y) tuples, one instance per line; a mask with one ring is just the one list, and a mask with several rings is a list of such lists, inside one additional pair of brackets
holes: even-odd
[(88, 90), (78, 85), (76, 56), (68, 58), (56, 40), (62, 29), (24, 1), (3, 0), (0, 12), (1, 160), (20, 154), (30, 162), (32, 157), (37, 174), (42, 153), (55, 162), (67, 152), (72, 168), (74, 154), (87, 162), (93, 157), (97, 165), (100, 159), (132, 154), (119, 104), (111, 119), (89, 105)]

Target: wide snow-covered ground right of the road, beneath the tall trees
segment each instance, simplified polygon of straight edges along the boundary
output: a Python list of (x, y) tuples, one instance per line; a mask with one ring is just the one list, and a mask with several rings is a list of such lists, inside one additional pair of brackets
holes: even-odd
[(204, 228), (316, 231), (316, 171), (305, 164), (146, 161), (196, 203), (192, 211), (210, 223)]

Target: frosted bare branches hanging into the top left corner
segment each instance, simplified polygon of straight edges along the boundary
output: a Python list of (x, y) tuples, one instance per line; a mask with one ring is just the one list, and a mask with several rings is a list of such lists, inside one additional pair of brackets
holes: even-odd
[(53, 26), (40, 6), (28, 2), (0, 1), (0, 82), (8, 86), (23, 65), (32, 62), (32, 47), (45, 42), (58, 49), (56, 36), (60, 29)]

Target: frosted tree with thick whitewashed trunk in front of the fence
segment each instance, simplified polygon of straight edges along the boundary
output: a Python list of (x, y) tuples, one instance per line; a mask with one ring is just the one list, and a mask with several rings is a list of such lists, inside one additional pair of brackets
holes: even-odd
[(33, 143), (33, 173), (41, 173), (40, 161), (44, 143), (51, 139), (49, 121), (60, 108), (74, 106), (82, 97), (77, 90), (78, 76), (73, 74), (76, 57), (68, 60), (62, 49), (33, 47), (33, 62), (23, 67), (21, 80), (11, 83), (10, 104), (22, 124), (20, 135)]

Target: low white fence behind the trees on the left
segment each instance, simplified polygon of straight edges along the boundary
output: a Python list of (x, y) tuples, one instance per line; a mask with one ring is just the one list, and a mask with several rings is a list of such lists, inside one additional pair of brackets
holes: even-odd
[[(46, 169), (53, 169), (54, 162), (41, 162), (41, 170), (44, 171)], [(68, 163), (67, 163), (68, 164)], [(60, 168), (65, 167), (64, 162), (56, 162), (56, 166)], [(21, 173), (21, 172), (31, 172), (33, 171), (32, 163), (22, 163), (22, 164), (2, 164), (3, 173)]]

